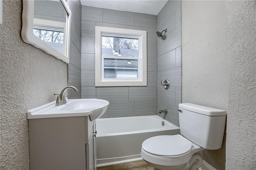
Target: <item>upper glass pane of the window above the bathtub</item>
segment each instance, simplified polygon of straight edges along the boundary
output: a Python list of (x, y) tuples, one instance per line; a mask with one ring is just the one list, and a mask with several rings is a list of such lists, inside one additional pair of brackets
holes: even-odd
[(102, 56), (138, 57), (139, 40), (102, 36)]

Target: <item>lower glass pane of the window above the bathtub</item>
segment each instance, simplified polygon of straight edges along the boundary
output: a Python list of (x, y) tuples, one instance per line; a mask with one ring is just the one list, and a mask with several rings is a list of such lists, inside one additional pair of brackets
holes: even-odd
[(104, 58), (104, 78), (138, 78), (138, 60)]

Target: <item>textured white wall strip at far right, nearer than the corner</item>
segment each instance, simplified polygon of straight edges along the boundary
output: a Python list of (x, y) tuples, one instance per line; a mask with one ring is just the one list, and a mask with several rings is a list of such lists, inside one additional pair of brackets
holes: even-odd
[(227, 170), (256, 170), (256, 1), (228, 1)]

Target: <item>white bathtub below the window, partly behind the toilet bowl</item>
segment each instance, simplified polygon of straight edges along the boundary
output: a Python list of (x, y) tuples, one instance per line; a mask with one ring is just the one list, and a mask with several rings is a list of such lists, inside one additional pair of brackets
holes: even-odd
[(97, 119), (96, 130), (98, 167), (140, 160), (147, 138), (180, 134), (179, 127), (158, 115)]

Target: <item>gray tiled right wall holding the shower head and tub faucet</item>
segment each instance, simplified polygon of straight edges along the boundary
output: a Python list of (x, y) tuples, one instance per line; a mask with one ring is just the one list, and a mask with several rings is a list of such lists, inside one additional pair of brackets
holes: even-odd
[[(166, 28), (166, 39), (157, 38), (157, 111), (174, 125), (179, 126), (178, 104), (181, 103), (181, 2), (168, 1), (157, 16), (157, 30)], [(168, 79), (170, 88), (164, 89), (160, 81)]]

